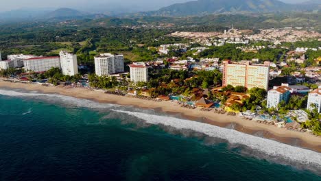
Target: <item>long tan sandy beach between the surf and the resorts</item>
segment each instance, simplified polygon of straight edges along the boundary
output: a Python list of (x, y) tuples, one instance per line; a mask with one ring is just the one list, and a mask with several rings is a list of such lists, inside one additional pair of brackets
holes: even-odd
[(321, 138), (313, 136), (308, 132), (294, 132), (284, 128), (276, 128), (275, 125), (265, 125), (257, 121), (249, 121), (239, 116), (228, 116), (227, 114), (218, 114), (215, 112), (200, 111), (182, 108), (171, 101), (148, 101), (134, 97), (123, 97), (119, 95), (108, 95), (99, 91), (89, 90), (87, 88), (63, 88), (61, 86), (41, 86), (40, 84), (23, 84), (4, 82), (0, 79), (0, 88), (21, 88), (29, 91), (39, 91), (40, 93), (66, 95), (79, 99), (89, 99), (105, 104), (118, 104), (121, 106), (134, 106), (144, 109), (154, 109), (156, 112), (164, 112), (171, 116), (178, 116), (182, 119), (199, 121), (211, 125), (217, 125), (225, 128), (230, 124), (235, 124), (235, 130), (246, 134), (252, 134), (272, 139), (288, 145), (311, 149), (321, 153)]

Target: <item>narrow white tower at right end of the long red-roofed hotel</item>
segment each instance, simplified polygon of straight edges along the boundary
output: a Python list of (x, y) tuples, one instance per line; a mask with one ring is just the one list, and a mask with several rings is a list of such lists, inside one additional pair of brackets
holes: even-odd
[(63, 75), (76, 75), (78, 74), (77, 56), (67, 51), (60, 51), (60, 66)]

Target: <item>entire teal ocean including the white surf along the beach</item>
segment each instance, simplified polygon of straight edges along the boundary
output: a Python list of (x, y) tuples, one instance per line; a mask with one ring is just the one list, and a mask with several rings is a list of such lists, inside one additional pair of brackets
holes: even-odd
[(321, 154), (214, 125), (0, 90), (0, 180), (321, 180)]

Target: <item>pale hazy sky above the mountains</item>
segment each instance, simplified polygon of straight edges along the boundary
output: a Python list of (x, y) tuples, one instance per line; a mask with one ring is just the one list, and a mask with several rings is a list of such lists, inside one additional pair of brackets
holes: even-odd
[[(86, 10), (88, 8), (102, 9), (104, 5), (110, 10), (110, 5), (139, 10), (156, 10), (172, 3), (182, 3), (191, 0), (0, 0), (0, 11), (16, 10), (21, 8), (75, 8)], [(241, 0), (240, 0), (241, 1)], [(306, 0), (281, 0), (287, 3), (297, 3)]]

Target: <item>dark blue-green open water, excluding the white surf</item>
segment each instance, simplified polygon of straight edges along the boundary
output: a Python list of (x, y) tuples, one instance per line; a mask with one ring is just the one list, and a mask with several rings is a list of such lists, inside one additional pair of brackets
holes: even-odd
[(321, 180), (108, 114), (0, 95), (0, 180)]

